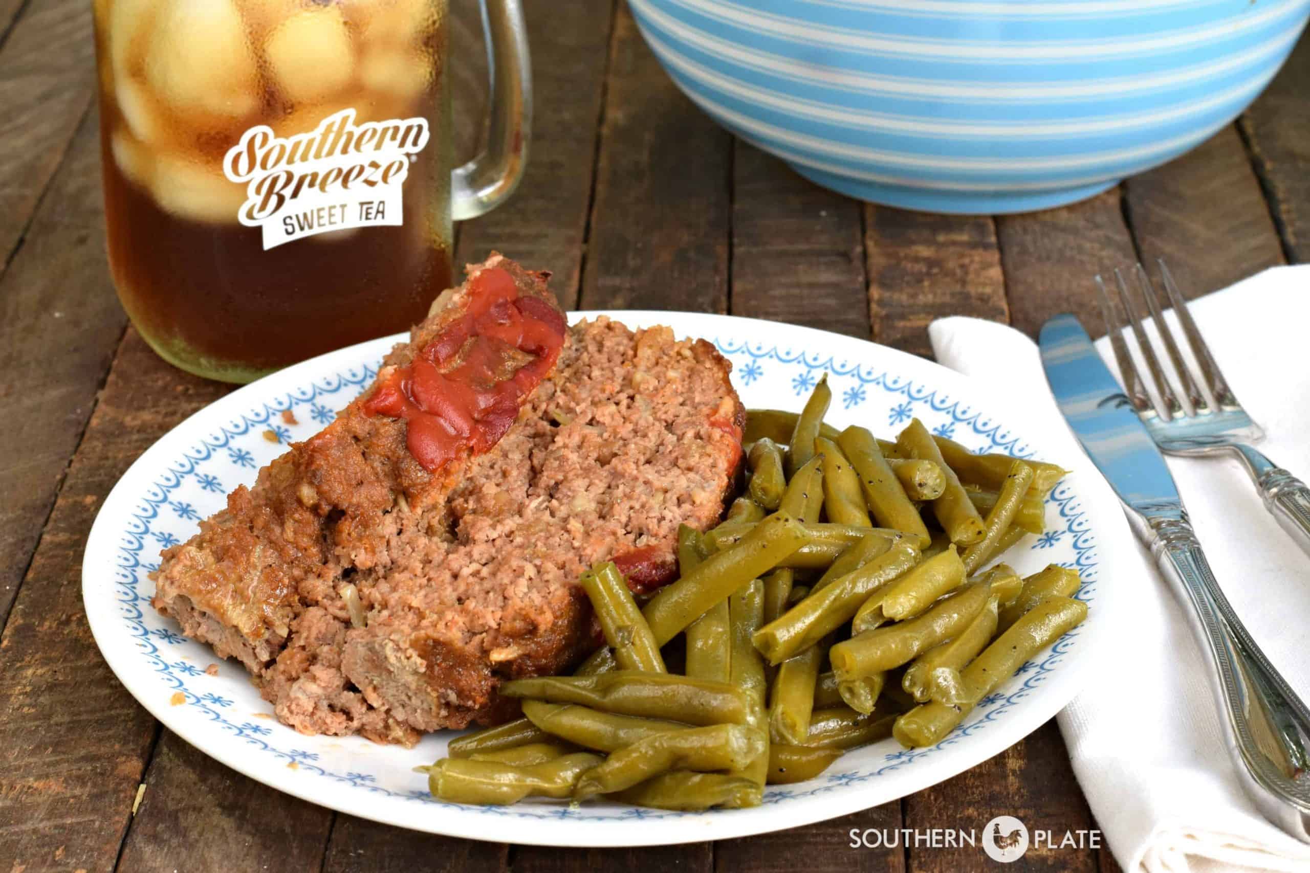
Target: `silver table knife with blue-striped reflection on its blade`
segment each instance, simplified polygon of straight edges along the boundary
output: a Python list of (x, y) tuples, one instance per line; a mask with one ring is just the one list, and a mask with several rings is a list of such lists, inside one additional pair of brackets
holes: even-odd
[(1212, 681), (1227, 716), (1227, 747), (1242, 787), (1260, 811), (1310, 843), (1310, 709), (1273, 669), (1238, 619), (1192, 531), (1174, 476), (1087, 331), (1056, 315), (1038, 340), (1056, 403), (1083, 450), (1123, 501), (1137, 538), (1183, 603), (1210, 654)]

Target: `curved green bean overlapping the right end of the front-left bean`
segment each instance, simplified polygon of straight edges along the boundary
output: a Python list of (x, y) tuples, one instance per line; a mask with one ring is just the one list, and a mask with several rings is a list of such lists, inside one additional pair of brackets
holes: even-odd
[(574, 797), (612, 794), (671, 770), (741, 770), (765, 754), (761, 733), (744, 725), (660, 733), (612, 753), (588, 770)]

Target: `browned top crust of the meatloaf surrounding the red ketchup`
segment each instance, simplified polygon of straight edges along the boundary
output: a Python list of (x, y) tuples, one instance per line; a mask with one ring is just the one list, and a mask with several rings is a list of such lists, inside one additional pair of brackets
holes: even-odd
[[(563, 315), (545, 284), (549, 274), (529, 272), (499, 254), (468, 270), (468, 281), (444, 292), (410, 342), (392, 349), (379, 381), (411, 365), (434, 340), (468, 335), (469, 314), (486, 308), (489, 296), (517, 297), (515, 305), (534, 308), (558, 332), (553, 348), (540, 355), (506, 353), (511, 365), (536, 377), (525, 380), (532, 383), (517, 398), (521, 403), (554, 365), (563, 342)], [(445, 369), (460, 363), (458, 355), (451, 356)], [(261, 675), (307, 603), (337, 597), (345, 572), (373, 564), (385, 546), (384, 518), (398, 500), (418, 509), (444, 505), (469, 457), (489, 446), (461, 445), (444, 465), (424, 467), (407, 448), (405, 420), (365, 411), (373, 393), (261, 470), (253, 488), (233, 491), (227, 509), (200, 522), (195, 537), (164, 551), (155, 607), (177, 618), (189, 636)]]

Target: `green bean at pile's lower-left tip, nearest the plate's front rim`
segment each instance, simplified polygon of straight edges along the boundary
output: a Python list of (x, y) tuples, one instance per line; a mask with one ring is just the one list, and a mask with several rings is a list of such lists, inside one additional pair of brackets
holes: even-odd
[(576, 751), (531, 767), (514, 767), (495, 760), (443, 758), (427, 774), (432, 796), (451, 804), (516, 804), (524, 797), (572, 794), (584, 772), (603, 760), (600, 755)]

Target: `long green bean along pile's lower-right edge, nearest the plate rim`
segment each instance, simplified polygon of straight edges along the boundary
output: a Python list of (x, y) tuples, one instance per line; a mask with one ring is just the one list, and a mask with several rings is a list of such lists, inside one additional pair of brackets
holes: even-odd
[(1087, 605), (1066, 597), (1047, 597), (1024, 613), (1007, 631), (960, 673), (965, 703), (924, 703), (896, 719), (893, 734), (907, 749), (941, 742), (1002, 682), (1038, 652), (1087, 618)]

